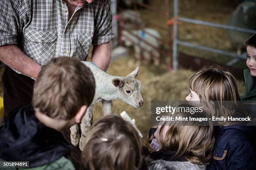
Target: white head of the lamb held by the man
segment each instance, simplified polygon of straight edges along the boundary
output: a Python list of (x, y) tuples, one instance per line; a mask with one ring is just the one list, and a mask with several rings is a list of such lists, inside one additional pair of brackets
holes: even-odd
[(120, 99), (133, 107), (142, 107), (141, 82), (135, 79), (138, 75), (138, 67), (125, 77), (114, 78), (112, 83), (118, 87)]

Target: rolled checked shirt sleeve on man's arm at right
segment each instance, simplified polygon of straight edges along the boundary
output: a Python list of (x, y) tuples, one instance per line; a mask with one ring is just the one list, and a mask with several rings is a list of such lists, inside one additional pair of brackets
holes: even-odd
[(97, 14), (95, 18), (95, 31), (92, 39), (93, 45), (108, 43), (113, 37), (112, 13), (110, 10), (110, 0), (95, 1)]

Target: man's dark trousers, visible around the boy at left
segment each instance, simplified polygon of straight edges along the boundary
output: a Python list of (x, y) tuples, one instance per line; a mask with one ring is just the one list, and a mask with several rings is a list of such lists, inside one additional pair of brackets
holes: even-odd
[[(31, 104), (33, 95), (34, 80), (28, 76), (18, 74), (6, 66), (2, 77), (4, 87), (4, 109), (5, 117), (14, 109)], [(62, 132), (64, 138), (70, 142), (70, 130)], [(81, 150), (79, 147), (71, 148), (71, 157), (76, 169), (82, 170)]]

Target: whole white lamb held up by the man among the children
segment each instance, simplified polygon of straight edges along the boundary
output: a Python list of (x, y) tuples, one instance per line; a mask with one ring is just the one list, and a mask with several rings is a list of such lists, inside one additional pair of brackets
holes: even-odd
[[(124, 77), (112, 76), (92, 62), (82, 61), (92, 71), (96, 89), (92, 104), (88, 107), (86, 114), (80, 122), (80, 127), (75, 124), (70, 128), (70, 138), (72, 145), (79, 144), (80, 150), (83, 149), (84, 139), (87, 136), (88, 129), (92, 125), (93, 105), (102, 101), (103, 114), (112, 114), (112, 100), (122, 99), (125, 103), (138, 108), (143, 106), (143, 98), (141, 96), (141, 83), (135, 77), (138, 75), (138, 67), (130, 74)], [(81, 128), (81, 136), (79, 134)]]

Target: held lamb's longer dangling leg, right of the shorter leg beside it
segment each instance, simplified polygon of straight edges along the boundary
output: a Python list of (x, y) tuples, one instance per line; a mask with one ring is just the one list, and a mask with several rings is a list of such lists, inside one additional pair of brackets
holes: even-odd
[(87, 133), (90, 129), (90, 127), (92, 126), (92, 114), (93, 114), (93, 105), (88, 107), (81, 123), (81, 138), (80, 138), (80, 142), (79, 142), (79, 148), (80, 150), (83, 150), (84, 148), (84, 140), (87, 136)]

